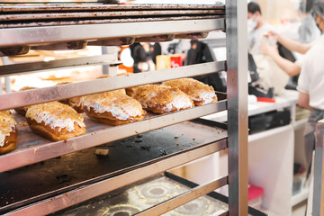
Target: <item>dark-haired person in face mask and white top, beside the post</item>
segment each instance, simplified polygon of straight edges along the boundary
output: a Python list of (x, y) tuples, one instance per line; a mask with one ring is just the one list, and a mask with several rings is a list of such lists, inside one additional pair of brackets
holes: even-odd
[(266, 23), (261, 16), (261, 9), (257, 3), (247, 4), (248, 52), (252, 55), (261, 54), (263, 36), (274, 27)]

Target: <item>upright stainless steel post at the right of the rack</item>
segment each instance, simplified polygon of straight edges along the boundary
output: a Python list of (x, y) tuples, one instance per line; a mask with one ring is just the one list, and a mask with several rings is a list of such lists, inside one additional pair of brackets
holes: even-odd
[(226, 1), (229, 215), (247, 215), (247, 1)]

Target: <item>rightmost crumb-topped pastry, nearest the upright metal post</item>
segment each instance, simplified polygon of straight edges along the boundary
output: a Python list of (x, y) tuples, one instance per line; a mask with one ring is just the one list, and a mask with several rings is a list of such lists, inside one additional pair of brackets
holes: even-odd
[(182, 78), (167, 81), (164, 85), (178, 87), (185, 94), (188, 94), (196, 106), (217, 102), (217, 95), (212, 86), (205, 85), (193, 78)]

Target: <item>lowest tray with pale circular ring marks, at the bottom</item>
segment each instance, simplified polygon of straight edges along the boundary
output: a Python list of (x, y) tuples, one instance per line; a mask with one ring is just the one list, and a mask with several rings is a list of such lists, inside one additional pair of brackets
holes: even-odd
[[(153, 205), (173, 198), (198, 186), (182, 177), (166, 172), (148, 179), (127, 185), (111, 193), (103, 194), (87, 202), (80, 203), (51, 216), (103, 216), (133, 215)], [(228, 198), (220, 193), (212, 192), (188, 202), (164, 216), (202, 216), (222, 215), (228, 211)], [(248, 208), (251, 216), (266, 216), (265, 213)]]

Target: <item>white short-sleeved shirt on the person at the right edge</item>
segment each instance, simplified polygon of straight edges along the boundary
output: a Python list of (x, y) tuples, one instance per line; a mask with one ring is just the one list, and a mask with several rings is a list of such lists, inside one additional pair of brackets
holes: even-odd
[(298, 80), (298, 91), (310, 94), (312, 108), (324, 110), (324, 40), (307, 52)]

